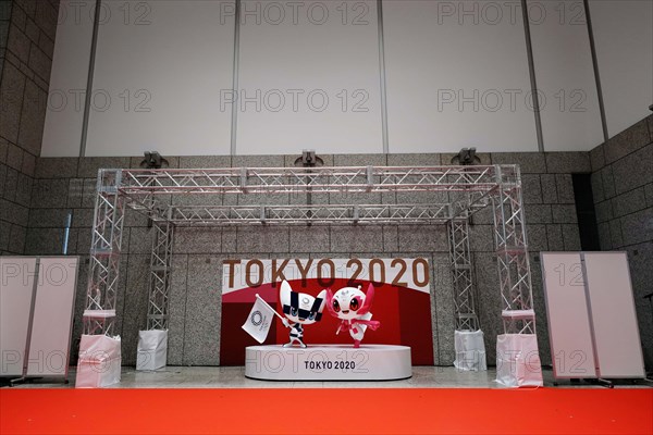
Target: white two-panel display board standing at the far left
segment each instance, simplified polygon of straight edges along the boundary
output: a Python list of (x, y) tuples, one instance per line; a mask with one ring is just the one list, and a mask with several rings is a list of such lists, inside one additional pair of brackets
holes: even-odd
[(0, 376), (67, 376), (77, 264), (0, 258)]

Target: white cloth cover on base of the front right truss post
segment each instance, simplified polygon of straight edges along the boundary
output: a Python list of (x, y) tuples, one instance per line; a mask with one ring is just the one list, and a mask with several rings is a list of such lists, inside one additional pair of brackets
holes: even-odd
[(496, 337), (496, 382), (507, 387), (542, 386), (542, 364), (534, 334)]

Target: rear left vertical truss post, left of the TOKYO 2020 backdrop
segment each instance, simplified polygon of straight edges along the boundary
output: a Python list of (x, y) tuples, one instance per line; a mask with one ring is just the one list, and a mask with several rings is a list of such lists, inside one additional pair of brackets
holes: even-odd
[[(172, 210), (170, 210), (172, 211)], [(147, 328), (168, 330), (170, 269), (174, 226), (170, 221), (155, 222), (150, 258)]]

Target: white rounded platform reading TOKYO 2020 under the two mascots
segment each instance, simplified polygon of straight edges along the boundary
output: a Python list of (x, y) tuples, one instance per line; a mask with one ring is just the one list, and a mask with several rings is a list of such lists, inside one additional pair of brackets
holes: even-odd
[(412, 376), (412, 365), (407, 346), (249, 346), (245, 376), (261, 381), (394, 381)]

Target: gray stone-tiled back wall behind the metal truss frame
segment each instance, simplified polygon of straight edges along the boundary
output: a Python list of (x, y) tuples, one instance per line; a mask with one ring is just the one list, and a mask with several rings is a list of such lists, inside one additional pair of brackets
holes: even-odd
[[(326, 165), (438, 165), (453, 154), (349, 154), (320, 156)], [(523, 198), (539, 315), (538, 332), (544, 363), (550, 363), (545, 310), (538, 252), (578, 250), (571, 173), (591, 170), (587, 152), (481, 154), (483, 164), (517, 163), (523, 174)], [(167, 157), (171, 167), (286, 166), (296, 156)], [(96, 175), (99, 167), (138, 167), (141, 158), (38, 159), (32, 194), (26, 254), (56, 254), (63, 245), (63, 226), (73, 213), (71, 254), (84, 261), (76, 298), (74, 337), (82, 331), (86, 295), (87, 257), (90, 246)], [(368, 203), (445, 201), (446, 194), (313, 195), (313, 202)], [(300, 203), (305, 194), (274, 196), (204, 197), (213, 203)], [(197, 198), (174, 198), (177, 203)], [(123, 337), (123, 363), (136, 360), (137, 334), (146, 326), (148, 264), (151, 229), (147, 220), (127, 212), (124, 232), (118, 333)], [(481, 325), (485, 332), (489, 362), (494, 363), (495, 337), (502, 332), (500, 293), (493, 257), (492, 213), (475, 216), (471, 249)], [(433, 348), (435, 363), (454, 360), (452, 281), (445, 227), (433, 226), (312, 226), (178, 229), (174, 244), (171, 288), (169, 363), (218, 365), (220, 349), (220, 283), (226, 258), (350, 258), (426, 257), (432, 264)], [(76, 358), (77, 343), (73, 346)]]

